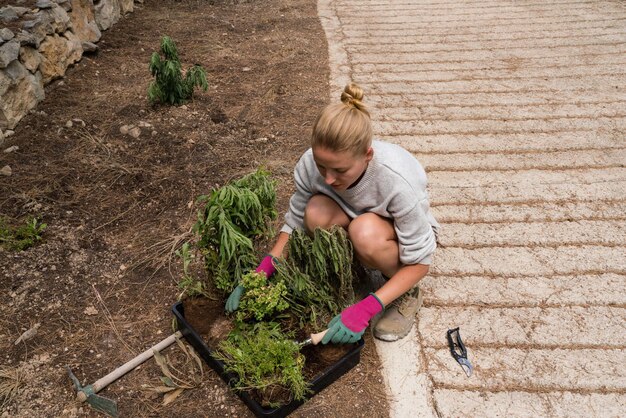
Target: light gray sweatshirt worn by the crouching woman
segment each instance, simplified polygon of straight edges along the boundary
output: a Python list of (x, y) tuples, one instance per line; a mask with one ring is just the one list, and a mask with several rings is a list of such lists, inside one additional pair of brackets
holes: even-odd
[(313, 151), (306, 151), (294, 170), (296, 192), (289, 201), (281, 231), (291, 234), (295, 228), (303, 228), (307, 202), (314, 194), (322, 193), (352, 219), (371, 212), (393, 220), (400, 262), (431, 264), (439, 224), (430, 212), (426, 172), (415, 157), (398, 145), (373, 141), (372, 148), (374, 157), (365, 174), (345, 191), (336, 191), (324, 182)]

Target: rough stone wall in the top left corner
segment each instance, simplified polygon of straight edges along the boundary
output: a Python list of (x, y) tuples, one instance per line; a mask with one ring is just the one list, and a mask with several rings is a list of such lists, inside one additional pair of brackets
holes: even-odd
[[(143, 0), (135, 0), (143, 3)], [(44, 98), (102, 31), (134, 9), (133, 0), (14, 0), (0, 8), (0, 141)]]

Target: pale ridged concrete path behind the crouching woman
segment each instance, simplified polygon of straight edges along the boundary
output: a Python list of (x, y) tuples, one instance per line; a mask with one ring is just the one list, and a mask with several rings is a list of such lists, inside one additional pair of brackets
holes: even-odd
[[(626, 2), (319, 0), (443, 225), (391, 416), (626, 416)], [(461, 327), (475, 373), (450, 356)]]

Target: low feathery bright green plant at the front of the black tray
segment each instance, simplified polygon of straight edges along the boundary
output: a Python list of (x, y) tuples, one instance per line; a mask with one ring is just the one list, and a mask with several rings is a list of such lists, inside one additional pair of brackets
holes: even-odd
[(213, 353), (226, 371), (237, 374), (235, 389), (256, 391), (263, 406), (277, 407), (291, 399), (304, 399), (309, 387), (298, 344), (275, 323), (240, 325)]

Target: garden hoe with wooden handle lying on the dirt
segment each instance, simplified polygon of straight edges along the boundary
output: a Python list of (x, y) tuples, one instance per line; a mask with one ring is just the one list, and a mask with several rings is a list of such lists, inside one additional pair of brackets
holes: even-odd
[(98, 393), (99, 391), (107, 387), (110, 383), (116, 381), (129, 371), (133, 370), (135, 367), (139, 366), (140, 364), (154, 356), (155, 351), (158, 352), (164, 350), (165, 348), (172, 345), (172, 343), (174, 343), (176, 339), (181, 337), (182, 334), (180, 333), (180, 331), (175, 332), (160, 343), (153, 345), (143, 353), (139, 354), (137, 357), (130, 360), (126, 364), (113, 370), (111, 373), (107, 374), (103, 378), (98, 379), (98, 381), (96, 381), (96, 383), (94, 383), (93, 385), (87, 385), (85, 387), (82, 387), (80, 385), (80, 382), (78, 381), (76, 376), (74, 376), (74, 373), (72, 373), (69, 366), (65, 366), (67, 372), (70, 375), (70, 378), (72, 379), (72, 382), (74, 382), (74, 386), (76, 386), (76, 390), (78, 390), (76, 398), (80, 402), (87, 401), (87, 403), (97, 411), (104, 412), (105, 414), (108, 414), (112, 417), (117, 417), (117, 403), (111, 399), (96, 395), (96, 393)]

